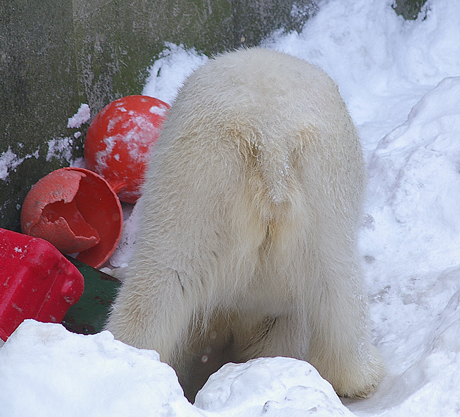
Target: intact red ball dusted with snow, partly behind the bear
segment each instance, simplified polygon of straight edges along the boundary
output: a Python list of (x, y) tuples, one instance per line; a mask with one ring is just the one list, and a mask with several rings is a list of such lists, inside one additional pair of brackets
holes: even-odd
[(135, 203), (169, 105), (149, 96), (127, 96), (104, 107), (85, 139), (86, 167), (104, 177), (121, 201)]

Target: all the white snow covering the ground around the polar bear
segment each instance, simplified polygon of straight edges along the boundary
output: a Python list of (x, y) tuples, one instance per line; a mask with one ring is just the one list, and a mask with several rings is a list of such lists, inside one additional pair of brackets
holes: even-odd
[[(460, 2), (428, 0), (417, 21), (391, 4), (326, 1), (302, 33), (265, 42), (328, 72), (362, 138), (376, 394), (342, 404), (308, 363), (271, 358), (225, 366), (191, 405), (155, 352), (27, 321), (0, 348), (0, 417), (460, 415)], [(144, 93), (171, 102), (205, 61), (168, 45)]]

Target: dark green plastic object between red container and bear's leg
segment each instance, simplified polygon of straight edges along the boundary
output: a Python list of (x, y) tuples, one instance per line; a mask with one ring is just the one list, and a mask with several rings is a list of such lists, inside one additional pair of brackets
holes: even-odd
[(104, 328), (121, 282), (77, 259), (67, 259), (85, 278), (85, 290), (78, 303), (69, 308), (62, 324), (73, 333), (99, 333)]

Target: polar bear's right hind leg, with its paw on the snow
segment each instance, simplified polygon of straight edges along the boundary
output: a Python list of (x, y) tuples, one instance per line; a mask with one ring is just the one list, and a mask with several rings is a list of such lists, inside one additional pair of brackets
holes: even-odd
[[(360, 282), (359, 266), (351, 261), (318, 271), (308, 291), (308, 323), (311, 331), (307, 360), (343, 397), (369, 397), (383, 374), (380, 354), (370, 343), (368, 311)], [(351, 264), (351, 266), (350, 266)], [(317, 265), (321, 265), (320, 262)], [(340, 264), (339, 264), (340, 265)], [(351, 276), (352, 273), (357, 274)]]

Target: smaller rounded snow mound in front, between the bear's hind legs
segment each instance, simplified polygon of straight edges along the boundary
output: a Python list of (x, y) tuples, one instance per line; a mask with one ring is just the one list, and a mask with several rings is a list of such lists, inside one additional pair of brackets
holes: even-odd
[(313, 366), (292, 358), (224, 365), (198, 393), (195, 405), (219, 416), (353, 416)]

